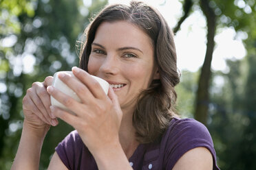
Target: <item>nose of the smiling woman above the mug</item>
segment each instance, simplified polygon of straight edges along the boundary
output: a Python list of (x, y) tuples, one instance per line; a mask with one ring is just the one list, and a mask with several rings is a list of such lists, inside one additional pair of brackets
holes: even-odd
[(108, 54), (100, 66), (100, 71), (105, 74), (117, 74), (119, 71), (119, 63), (116, 56)]

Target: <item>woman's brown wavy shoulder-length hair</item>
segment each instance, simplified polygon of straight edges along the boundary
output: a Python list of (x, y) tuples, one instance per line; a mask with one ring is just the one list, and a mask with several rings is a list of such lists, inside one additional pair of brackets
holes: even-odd
[(80, 54), (81, 69), (87, 71), (92, 42), (98, 26), (103, 22), (127, 21), (142, 29), (152, 40), (154, 62), (158, 66), (160, 80), (153, 80), (143, 90), (134, 110), (133, 125), (140, 143), (156, 142), (175, 116), (177, 95), (174, 86), (180, 82), (173, 32), (160, 12), (141, 1), (129, 5), (108, 5), (94, 17), (85, 29), (86, 40)]

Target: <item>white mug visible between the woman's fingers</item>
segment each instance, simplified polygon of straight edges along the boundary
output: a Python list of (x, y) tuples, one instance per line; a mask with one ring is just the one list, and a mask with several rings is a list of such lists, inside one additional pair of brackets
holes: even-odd
[[(72, 71), (58, 71), (56, 73), (54, 73), (54, 80), (52, 81), (52, 86), (54, 86), (54, 88), (57, 88), (58, 90), (61, 90), (62, 93), (65, 93), (66, 95), (69, 95), (70, 97), (72, 97), (73, 99), (75, 99), (78, 102), (81, 102), (81, 99), (76, 95), (76, 93), (74, 92), (74, 90), (72, 90), (69, 86), (67, 86), (65, 83), (63, 83), (59, 78), (58, 78), (58, 74), (59, 73), (67, 73), (70, 74), (72, 77), (75, 77), (77, 80), (78, 78), (76, 76), (74, 76), (74, 74), (72, 73)], [(98, 81), (98, 83), (100, 84), (100, 86), (103, 88), (105, 94), (107, 95), (108, 90), (109, 90), (109, 83), (106, 82), (105, 80), (101, 79), (100, 77), (96, 77), (94, 75), (91, 75), (92, 77), (94, 77), (95, 80)], [(71, 112), (72, 114), (74, 114), (71, 110), (69, 110), (66, 106), (64, 106), (63, 104), (61, 104), (59, 101), (57, 101), (56, 99), (54, 99), (54, 97), (52, 97), (51, 95), (51, 104), (52, 106), (58, 106), (59, 108), (62, 108), (63, 110), (66, 110), (68, 112)]]

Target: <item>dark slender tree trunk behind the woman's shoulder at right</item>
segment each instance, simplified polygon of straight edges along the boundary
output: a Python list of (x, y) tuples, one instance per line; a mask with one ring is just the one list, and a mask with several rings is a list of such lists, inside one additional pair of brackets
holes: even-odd
[(208, 108), (209, 108), (209, 82), (211, 80), (211, 61), (213, 58), (214, 49), (214, 36), (216, 28), (216, 15), (213, 8), (209, 6), (208, 0), (201, 0), (200, 6), (204, 15), (206, 16), (207, 22), (207, 45), (206, 55), (204, 58), (204, 64), (201, 69), (198, 91), (195, 100), (195, 119), (204, 123), (207, 123)]

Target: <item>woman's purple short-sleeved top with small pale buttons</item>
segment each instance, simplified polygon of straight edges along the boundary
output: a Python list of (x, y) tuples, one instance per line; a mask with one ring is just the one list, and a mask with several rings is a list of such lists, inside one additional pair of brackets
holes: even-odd
[[(195, 147), (206, 147), (213, 156), (213, 170), (216, 154), (211, 135), (206, 127), (194, 119), (172, 119), (160, 143), (140, 144), (129, 158), (133, 169), (173, 169), (179, 158)], [(94, 157), (74, 130), (56, 147), (56, 152), (67, 169), (98, 169)]]

